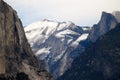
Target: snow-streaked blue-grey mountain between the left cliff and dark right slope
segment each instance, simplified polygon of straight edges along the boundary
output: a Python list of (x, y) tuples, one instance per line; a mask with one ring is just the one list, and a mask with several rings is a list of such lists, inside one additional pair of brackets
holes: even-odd
[(55, 78), (62, 75), (71, 66), (73, 59), (84, 51), (83, 43), (89, 31), (89, 27), (82, 28), (72, 22), (47, 19), (25, 27), (33, 52)]

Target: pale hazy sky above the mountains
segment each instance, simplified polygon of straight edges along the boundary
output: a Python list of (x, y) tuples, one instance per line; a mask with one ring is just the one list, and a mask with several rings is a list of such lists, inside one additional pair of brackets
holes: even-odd
[(120, 0), (4, 0), (18, 13), (25, 25), (49, 19), (72, 21), (77, 25), (92, 26), (102, 11), (120, 11)]

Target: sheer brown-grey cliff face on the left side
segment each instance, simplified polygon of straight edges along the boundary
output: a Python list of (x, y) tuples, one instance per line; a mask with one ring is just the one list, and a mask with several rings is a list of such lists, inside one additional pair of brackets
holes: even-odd
[(14, 80), (21, 72), (30, 80), (52, 80), (49, 73), (40, 70), (17, 13), (0, 0), (0, 77)]

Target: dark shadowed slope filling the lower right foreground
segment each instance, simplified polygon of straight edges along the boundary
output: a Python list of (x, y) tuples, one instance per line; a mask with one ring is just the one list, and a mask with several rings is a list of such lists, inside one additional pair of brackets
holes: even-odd
[(58, 80), (120, 80), (120, 24), (74, 60)]

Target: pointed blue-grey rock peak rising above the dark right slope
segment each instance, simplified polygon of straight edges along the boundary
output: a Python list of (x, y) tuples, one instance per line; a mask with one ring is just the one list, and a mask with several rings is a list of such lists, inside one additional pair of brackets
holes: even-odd
[(118, 20), (115, 16), (110, 13), (103, 12), (99, 23), (92, 27), (88, 40), (95, 42), (101, 35), (115, 28), (116, 24), (118, 24)]

